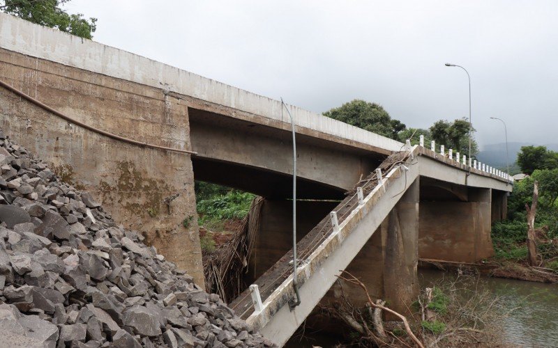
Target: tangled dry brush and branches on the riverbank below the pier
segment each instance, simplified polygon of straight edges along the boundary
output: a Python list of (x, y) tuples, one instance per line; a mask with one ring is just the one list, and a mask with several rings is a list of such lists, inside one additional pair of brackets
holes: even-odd
[(345, 343), (351, 347), (504, 347), (502, 324), (508, 313), (478, 276), (444, 278), (430, 286), (421, 290), (403, 324), (383, 322), (365, 287), (366, 306), (354, 306), (342, 291), (334, 306), (320, 306), (320, 314), (347, 326), (350, 341)]

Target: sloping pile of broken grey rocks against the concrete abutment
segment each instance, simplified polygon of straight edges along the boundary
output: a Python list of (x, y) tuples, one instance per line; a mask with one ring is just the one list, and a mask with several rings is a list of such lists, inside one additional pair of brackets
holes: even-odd
[(271, 345), (1, 131), (0, 168), (0, 347)]

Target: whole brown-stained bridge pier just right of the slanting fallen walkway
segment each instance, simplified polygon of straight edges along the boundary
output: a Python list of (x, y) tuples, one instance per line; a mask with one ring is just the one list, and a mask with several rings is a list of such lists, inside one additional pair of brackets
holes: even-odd
[[(400, 313), (407, 313), (418, 295), (418, 183), (417, 177), (346, 269), (364, 283), (372, 299), (387, 300)], [(342, 281), (324, 301), (338, 301), (342, 295), (355, 306), (368, 301), (359, 287)]]

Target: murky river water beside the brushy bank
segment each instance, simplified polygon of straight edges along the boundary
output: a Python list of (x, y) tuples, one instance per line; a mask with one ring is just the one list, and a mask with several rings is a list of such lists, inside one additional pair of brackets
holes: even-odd
[[(419, 270), (421, 286), (450, 274)], [(502, 298), (504, 333), (513, 347), (558, 347), (558, 285), (482, 277), (482, 287)]]

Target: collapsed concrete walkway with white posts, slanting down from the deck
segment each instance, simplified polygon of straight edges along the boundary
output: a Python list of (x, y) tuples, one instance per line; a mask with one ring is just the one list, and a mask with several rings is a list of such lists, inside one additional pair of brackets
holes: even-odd
[(296, 298), (289, 251), (230, 303), (236, 314), (283, 345), (415, 182), (418, 152), (418, 146), (407, 145), (405, 151), (388, 157), (300, 240), (296, 246), (299, 306), (289, 308), (289, 301)]

